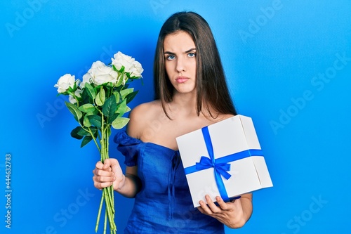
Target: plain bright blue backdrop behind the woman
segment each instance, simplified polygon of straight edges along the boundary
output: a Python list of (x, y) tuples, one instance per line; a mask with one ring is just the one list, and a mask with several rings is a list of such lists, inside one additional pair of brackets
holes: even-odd
[[(246, 226), (226, 233), (349, 232), (351, 1), (218, 2), (1, 1), (0, 233), (94, 233), (99, 155), (69, 136), (76, 123), (53, 85), (122, 51), (145, 69), (131, 107), (152, 100), (159, 29), (183, 10), (211, 25), (232, 98), (253, 118), (274, 183), (254, 193)], [(132, 204), (116, 195), (118, 233)]]

